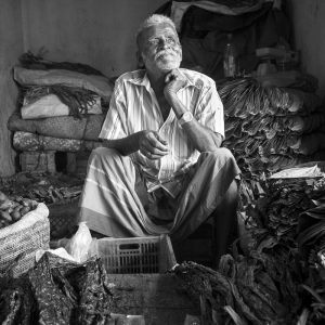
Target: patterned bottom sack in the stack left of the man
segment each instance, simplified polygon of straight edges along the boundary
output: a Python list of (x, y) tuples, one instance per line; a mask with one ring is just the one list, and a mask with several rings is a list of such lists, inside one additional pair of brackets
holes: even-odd
[(60, 152), (79, 152), (92, 151), (101, 146), (100, 141), (84, 141), (76, 139), (58, 139), (43, 136), (29, 132), (17, 131), (13, 136), (13, 147), (23, 152), (36, 151), (60, 151)]

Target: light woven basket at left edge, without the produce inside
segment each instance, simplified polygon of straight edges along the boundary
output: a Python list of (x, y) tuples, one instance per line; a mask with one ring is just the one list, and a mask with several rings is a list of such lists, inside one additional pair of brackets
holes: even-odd
[(50, 243), (49, 209), (40, 203), (20, 221), (0, 230), (0, 276), (18, 277), (35, 265), (35, 255)]

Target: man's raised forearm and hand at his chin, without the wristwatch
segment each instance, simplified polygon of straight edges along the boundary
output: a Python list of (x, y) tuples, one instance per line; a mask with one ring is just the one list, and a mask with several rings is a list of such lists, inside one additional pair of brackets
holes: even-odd
[[(177, 92), (185, 84), (184, 77), (179, 70), (171, 72), (166, 79), (165, 98), (171, 105), (178, 119), (188, 109), (177, 96)], [(194, 117), (191, 121), (182, 125), (194, 146), (199, 152), (211, 152), (221, 146), (222, 135), (200, 125)]]

